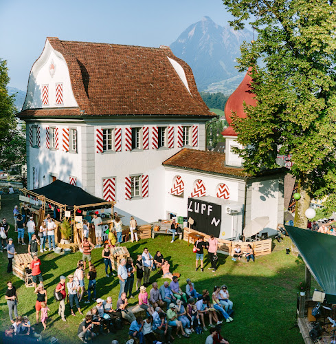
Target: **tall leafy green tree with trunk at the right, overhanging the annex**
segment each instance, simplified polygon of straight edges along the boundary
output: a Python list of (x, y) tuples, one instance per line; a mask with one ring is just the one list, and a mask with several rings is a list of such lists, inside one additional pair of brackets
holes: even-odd
[(256, 107), (247, 118), (234, 116), (245, 169), (276, 167), (277, 149), (291, 154), (291, 173), (301, 199), (295, 225), (306, 228), (311, 197), (330, 195), (336, 186), (336, 9), (326, 0), (223, 0), (258, 38), (241, 46), (240, 71), (251, 69)]

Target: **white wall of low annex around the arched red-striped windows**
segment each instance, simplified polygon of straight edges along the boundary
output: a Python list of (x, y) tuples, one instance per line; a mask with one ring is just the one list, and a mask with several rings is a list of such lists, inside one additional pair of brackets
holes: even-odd
[[(174, 178), (180, 175), (184, 183), (183, 197), (170, 194)], [(188, 214), (188, 197), (192, 193), (194, 182), (201, 179), (205, 185), (205, 195), (216, 197), (218, 184), (226, 184), (229, 188), (229, 200), (239, 200), (239, 184), (245, 184), (243, 180), (234, 180), (221, 176), (210, 175), (193, 171), (183, 171), (183, 169), (174, 169), (165, 167), (164, 176), (164, 215), (166, 212), (176, 213), (177, 216), (187, 216)]]

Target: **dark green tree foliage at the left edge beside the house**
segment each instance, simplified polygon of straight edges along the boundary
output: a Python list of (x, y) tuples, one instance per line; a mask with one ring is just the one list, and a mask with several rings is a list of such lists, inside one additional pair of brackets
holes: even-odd
[(4, 170), (25, 164), (25, 131), (17, 128), (15, 94), (8, 95), (9, 82), (7, 63), (0, 59), (0, 166)]

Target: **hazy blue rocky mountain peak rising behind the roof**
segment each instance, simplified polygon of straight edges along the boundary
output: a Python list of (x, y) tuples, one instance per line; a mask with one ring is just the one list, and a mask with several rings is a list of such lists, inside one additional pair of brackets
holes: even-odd
[(203, 17), (183, 31), (170, 48), (190, 65), (199, 91), (232, 94), (244, 77), (234, 68), (239, 47), (252, 36), (247, 29), (237, 31)]

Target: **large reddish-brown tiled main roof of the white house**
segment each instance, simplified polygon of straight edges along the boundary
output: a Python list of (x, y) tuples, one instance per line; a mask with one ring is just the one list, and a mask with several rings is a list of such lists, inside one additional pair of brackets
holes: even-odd
[[(47, 40), (65, 58), (74, 96), (86, 115), (214, 116), (197, 91), (191, 68), (169, 47)], [(190, 93), (168, 57), (183, 67)]]

